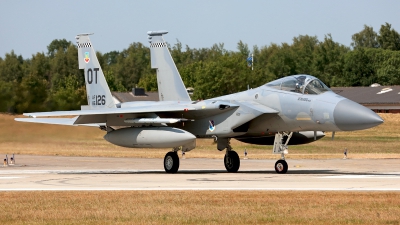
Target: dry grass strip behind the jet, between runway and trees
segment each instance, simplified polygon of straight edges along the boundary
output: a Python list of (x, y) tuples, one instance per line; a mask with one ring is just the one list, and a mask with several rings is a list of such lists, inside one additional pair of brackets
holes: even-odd
[[(331, 133), (306, 145), (290, 146), (288, 158), (340, 158), (344, 148), (352, 158), (400, 158), (400, 114), (380, 114), (382, 125), (363, 131)], [(129, 149), (103, 139), (104, 131), (93, 127), (71, 127), (15, 122), (14, 115), (0, 114), (0, 154), (107, 156), (163, 158), (169, 149)], [(249, 158), (275, 159), (272, 146), (258, 146), (232, 140), (239, 154), (246, 148)], [(192, 158), (222, 158), (211, 139), (198, 139), (186, 154)]]

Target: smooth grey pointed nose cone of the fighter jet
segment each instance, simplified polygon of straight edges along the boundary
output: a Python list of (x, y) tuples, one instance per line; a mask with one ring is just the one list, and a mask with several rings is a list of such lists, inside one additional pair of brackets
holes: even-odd
[(348, 99), (336, 105), (333, 118), (343, 131), (368, 129), (383, 123), (383, 119), (372, 110)]

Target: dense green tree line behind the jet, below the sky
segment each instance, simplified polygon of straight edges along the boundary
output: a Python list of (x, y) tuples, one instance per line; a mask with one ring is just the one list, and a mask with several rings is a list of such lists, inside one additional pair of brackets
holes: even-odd
[[(186, 87), (194, 88), (193, 99), (207, 99), (244, 91), (293, 74), (311, 74), (328, 86), (400, 84), (400, 35), (385, 23), (378, 32), (367, 25), (351, 37), (351, 46), (299, 35), (293, 43), (262, 47), (239, 41), (236, 51), (223, 43), (210, 48), (168, 46)], [(77, 47), (53, 40), (47, 53), (24, 59), (11, 51), (0, 57), (0, 111), (72, 110), (86, 105), (83, 70), (78, 69)], [(253, 70), (246, 59), (254, 56)], [(148, 46), (134, 42), (122, 51), (96, 53), (112, 91), (143, 87), (157, 90), (156, 71), (150, 68)]]

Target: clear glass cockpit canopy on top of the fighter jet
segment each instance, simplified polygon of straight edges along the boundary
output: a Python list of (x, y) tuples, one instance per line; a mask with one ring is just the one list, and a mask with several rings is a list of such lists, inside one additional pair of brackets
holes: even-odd
[(302, 94), (319, 95), (331, 91), (322, 81), (310, 75), (293, 75), (283, 77), (265, 84), (267, 87), (278, 90), (297, 92)]

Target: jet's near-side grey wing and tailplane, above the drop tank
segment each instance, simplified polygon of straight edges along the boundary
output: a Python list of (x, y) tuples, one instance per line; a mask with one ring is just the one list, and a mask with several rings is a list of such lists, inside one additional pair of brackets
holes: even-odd
[[(204, 103), (205, 104), (205, 103)], [(17, 118), (16, 121), (21, 122), (34, 122), (34, 123), (48, 123), (59, 125), (82, 125), (99, 126), (99, 124), (107, 123), (110, 126), (126, 126), (131, 123), (132, 119), (140, 118), (155, 118), (155, 115), (162, 115), (161, 117), (173, 116), (168, 119), (177, 121), (176, 119), (197, 119), (199, 115), (215, 115), (224, 111), (232, 110), (239, 107), (237, 104), (229, 102), (213, 102), (207, 105), (188, 103), (165, 104), (163, 102), (150, 104), (147, 106), (137, 107), (122, 107), (111, 109), (88, 109), (88, 110), (73, 110), (73, 111), (54, 111), (54, 112), (35, 112), (24, 113), (24, 116), (30, 118)], [(225, 107), (221, 109), (220, 107)], [(38, 118), (38, 117), (59, 117), (59, 116), (76, 116), (74, 119), (69, 118)], [(161, 118), (163, 119), (163, 118)], [(143, 123), (161, 123), (162, 120), (139, 120)], [(135, 121), (134, 121), (135, 122)], [(135, 122), (136, 123), (136, 122)], [(165, 122), (162, 122), (165, 123)]]

